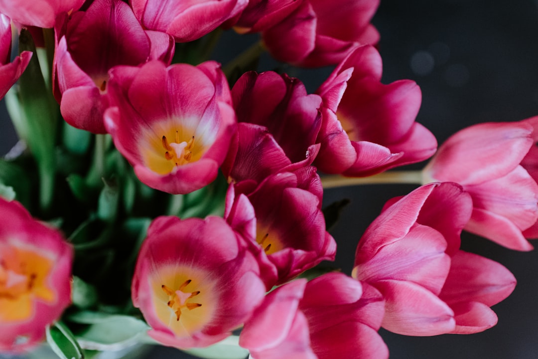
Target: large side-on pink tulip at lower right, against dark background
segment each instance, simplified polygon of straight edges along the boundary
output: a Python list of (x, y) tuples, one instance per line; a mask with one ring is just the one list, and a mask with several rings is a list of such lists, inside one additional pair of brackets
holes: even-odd
[(513, 291), (515, 279), (502, 265), (459, 250), (471, 211), (461, 186), (432, 183), (387, 203), (366, 229), (353, 277), (383, 294), (385, 329), (463, 334), (497, 323), (489, 307)]

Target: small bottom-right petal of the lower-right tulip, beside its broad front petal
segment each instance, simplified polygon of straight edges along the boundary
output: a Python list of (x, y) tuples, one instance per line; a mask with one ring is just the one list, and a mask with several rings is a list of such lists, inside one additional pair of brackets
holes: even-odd
[(497, 324), (497, 314), (479, 302), (462, 303), (452, 306), (456, 328), (451, 334), (474, 334), (483, 332)]

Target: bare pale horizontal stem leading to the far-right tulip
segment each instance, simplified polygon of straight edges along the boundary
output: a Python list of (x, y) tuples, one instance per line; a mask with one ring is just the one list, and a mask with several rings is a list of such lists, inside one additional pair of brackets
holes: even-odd
[(324, 189), (356, 185), (377, 184), (422, 184), (422, 171), (389, 171), (374, 174), (370, 177), (343, 177), (328, 175), (321, 177)]

